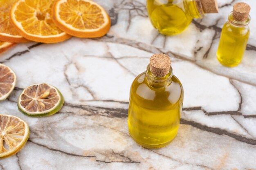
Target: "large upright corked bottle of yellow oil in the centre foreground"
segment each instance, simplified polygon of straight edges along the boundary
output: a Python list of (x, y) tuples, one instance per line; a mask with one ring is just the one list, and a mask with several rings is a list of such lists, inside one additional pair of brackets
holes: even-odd
[(168, 55), (155, 54), (130, 88), (128, 129), (137, 144), (160, 148), (171, 143), (180, 125), (184, 92)]

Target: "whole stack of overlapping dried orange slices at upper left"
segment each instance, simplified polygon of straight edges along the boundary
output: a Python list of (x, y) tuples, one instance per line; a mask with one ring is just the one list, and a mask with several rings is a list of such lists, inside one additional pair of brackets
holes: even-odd
[[(98, 38), (110, 29), (106, 11), (91, 0), (1, 0), (0, 41), (56, 43)], [(6, 44), (7, 45), (7, 44)], [(5, 51), (8, 48), (2, 48)]]

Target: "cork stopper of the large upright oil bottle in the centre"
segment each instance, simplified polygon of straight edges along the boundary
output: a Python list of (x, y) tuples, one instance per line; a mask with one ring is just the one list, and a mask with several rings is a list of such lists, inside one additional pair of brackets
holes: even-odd
[(156, 77), (164, 77), (170, 71), (171, 59), (165, 54), (155, 54), (150, 58), (150, 71)]

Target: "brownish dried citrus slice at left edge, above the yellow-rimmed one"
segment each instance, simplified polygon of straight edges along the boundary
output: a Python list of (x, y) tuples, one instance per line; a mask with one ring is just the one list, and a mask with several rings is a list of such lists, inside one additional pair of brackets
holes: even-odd
[(0, 101), (6, 99), (16, 84), (16, 75), (11, 68), (0, 64)]

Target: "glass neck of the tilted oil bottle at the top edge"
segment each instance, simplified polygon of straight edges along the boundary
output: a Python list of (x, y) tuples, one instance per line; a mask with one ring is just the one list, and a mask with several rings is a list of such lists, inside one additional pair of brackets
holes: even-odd
[(192, 18), (203, 18), (204, 10), (202, 7), (201, 0), (186, 0), (189, 14)]

